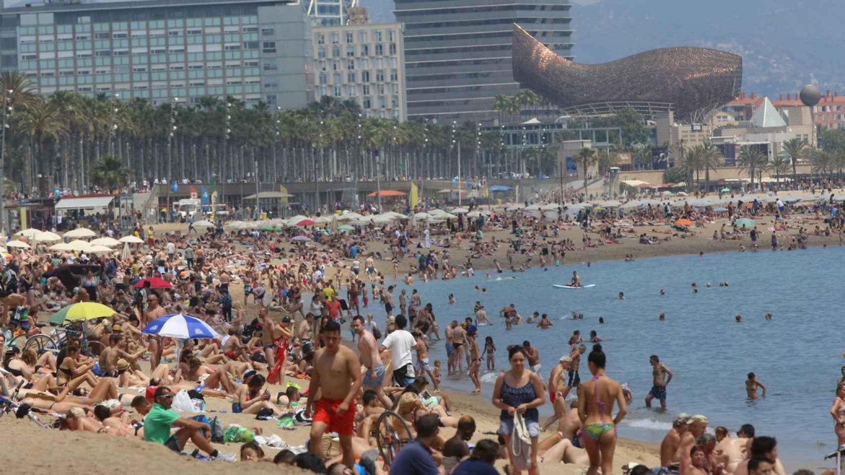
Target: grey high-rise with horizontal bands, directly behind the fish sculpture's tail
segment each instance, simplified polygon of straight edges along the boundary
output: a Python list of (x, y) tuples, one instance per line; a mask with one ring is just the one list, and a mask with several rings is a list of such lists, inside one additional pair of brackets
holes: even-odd
[(408, 119), (492, 121), (496, 95), (520, 89), (513, 24), (571, 59), (568, 0), (395, 0), (405, 24)]

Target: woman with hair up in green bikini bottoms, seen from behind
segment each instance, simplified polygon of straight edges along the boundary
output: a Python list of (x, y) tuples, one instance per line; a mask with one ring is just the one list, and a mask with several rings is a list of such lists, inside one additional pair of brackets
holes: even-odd
[[(613, 451), (616, 450), (616, 426), (627, 413), (622, 386), (604, 372), (605, 355), (602, 345), (592, 347), (587, 365), (592, 381), (578, 386), (578, 418), (584, 429), (579, 435), (581, 446), (590, 456), (586, 475), (596, 475), (601, 465), (602, 473), (613, 473)], [(613, 416), (613, 402), (619, 404), (619, 413)]]

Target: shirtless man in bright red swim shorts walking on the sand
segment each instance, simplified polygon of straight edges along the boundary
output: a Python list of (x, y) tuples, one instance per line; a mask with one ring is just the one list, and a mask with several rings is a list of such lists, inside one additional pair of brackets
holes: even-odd
[[(355, 395), (361, 389), (361, 364), (350, 348), (341, 345), (341, 325), (329, 321), (323, 329), (324, 348), (313, 357), (311, 385), (308, 386), (308, 402), (305, 417), (311, 415), (311, 452), (320, 456), (320, 440), (326, 429), (336, 432), (341, 440), (341, 454), (346, 467), (354, 467), (352, 435), (355, 421)], [(319, 399), (314, 398), (319, 394)]]

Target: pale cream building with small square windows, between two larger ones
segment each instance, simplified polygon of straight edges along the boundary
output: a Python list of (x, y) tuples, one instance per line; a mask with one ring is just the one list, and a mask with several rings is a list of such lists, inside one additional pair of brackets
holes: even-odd
[(406, 120), (402, 24), (313, 29), (317, 97), (356, 100), (368, 117)]

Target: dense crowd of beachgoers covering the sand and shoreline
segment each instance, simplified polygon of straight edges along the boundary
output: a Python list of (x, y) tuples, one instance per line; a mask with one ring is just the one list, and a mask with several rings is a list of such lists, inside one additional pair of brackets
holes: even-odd
[[(745, 204), (738, 206), (739, 214), (729, 205), (728, 218), (772, 213), (788, 226), (789, 209), (780, 208), (779, 202), (766, 207)], [(497, 375), (491, 401), (500, 410), (499, 430), (471, 445), (476, 421), (458, 413), (439, 386), (444, 377), (466, 374), (473, 392), (482, 391), (481, 369), (496, 370), (497, 345), (489, 336), (480, 342), (480, 328), (493, 322), (478, 301), (472, 317), (441, 328), (432, 303), (424, 302), (417, 289), (409, 295), (406, 289), (397, 292), (395, 285), (399, 280), (413, 286), (415, 279), (424, 283), (472, 276), (473, 260), (493, 256), (499, 246), (508, 247), (507, 268), (513, 273), (534, 264), (559, 265), (567, 251), (622, 239), (630, 231), (619, 219), (657, 226), (682, 218), (712, 219), (714, 212), (700, 213), (689, 205), (648, 205), (625, 216), (583, 209), (571, 219), (563, 207), (554, 219), (545, 213), (490, 213), (422, 228), (402, 220), (388, 226), (370, 223), (349, 233), (318, 227), (275, 233), (220, 226), (205, 232), (192, 227), (182, 234), (136, 225), (130, 234), (143, 244), (123, 252), (89, 256), (51, 252), (44, 245), (14, 251), (0, 275), (0, 390), (20, 418), (30, 412), (46, 414), (55, 418), (58, 429), (138, 438), (211, 460), (270, 457), (255, 441), (244, 442), (239, 456), (219, 451), (214, 424), (173, 410), (183, 393), (194, 401), (222, 398), (231, 403), (232, 413), (308, 424), (308, 444), (302, 450), (279, 451), (271, 460), (315, 472), (492, 474), (493, 463), (504, 458), (511, 474), (527, 470), (537, 475), (542, 466), (559, 463), (589, 467), (588, 475), (612, 473), (617, 428), (633, 394), (608, 375), (612, 362), (596, 330), (586, 341), (575, 331), (547, 379), (542, 378), (540, 356), (530, 341), (508, 345), (510, 367)], [(840, 216), (832, 213), (829, 227), (840, 223)], [(585, 229), (581, 247), (555, 239), (574, 226)], [(510, 229), (512, 236), (485, 240), (484, 233), (497, 227)], [(668, 232), (646, 239), (668, 240), (692, 231), (684, 227)], [(732, 225), (714, 240), (744, 232)], [(308, 239), (292, 243), (295, 235)], [(466, 261), (453, 262), (454, 252), (467, 248)], [(499, 262), (494, 266), (491, 273), (504, 273)], [(577, 273), (570, 284), (581, 285)], [(243, 294), (235, 294), (236, 289)], [(453, 298), (449, 301), (454, 303)], [(41, 315), (86, 302), (99, 302), (114, 312), (84, 323), (60, 322), (67, 327), (67, 339), (57, 351), (21, 344), (27, 337), (52, 331)], [(177, 340), (144, 332), (155, 319), (181, 314), (199, 318), (219, 336)], [(514, 305), (504, 306), (499, 316), (506, 327), (553, 327), (548, 315), (534, 312), (523, 318)], [(573, 317), (578, 316), (574, 312)], [(352, 344), (344, 343), (346, 332)], [(428, 356), (431, 345), (441, 340), (447, 354), (445, 375), (441, 362)], [(589, 371), (583, 380), (581, 359), (586, 359)], [(646, 407), (657, 399), (666, 408), (673, 372), (657, 355), (651, 356), (651, 366), (654, 382)], [(305, 383), (287, 385), (291, 380)], [(271, 388), (276, 388), (275, 396)], [(749, 397), (752, 392), (756, 397), (758, 388), (766, 394), (766, 386), (753, 373), (746, 388)], [(554, 413), (541, 423), (538, 408), (545, 404), (547, 392)], [(568, 399), (573, 392), (575, 399)], [(406, 442), (390, 467), (385, 467), (377, 444), (383, 429), (377, 422), (385, 411), (398, 415), (389, 419), (391, 429)], [(845, 444), (842, 381), (831, 415), (839, 443)], [(662, 441), (660, 466), (647, 470), (657, 475), (786, 475), (774, 438), (755, 435), (750, 424), (735, 437), (723, 427), (714, 436), (706, 432), (707, 424), (703, 415), (680, 414)], [(554, 431), (541, 440), (547, 429)], [(328, 434), (335, 434), (340, 445), (339, 453), (330, 457), (323, 450)], [(628, 470), (642, 475), (646, 467)]]

